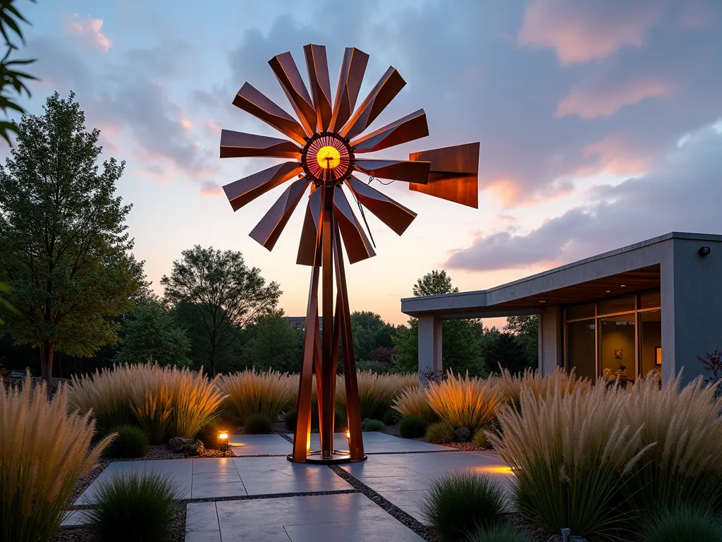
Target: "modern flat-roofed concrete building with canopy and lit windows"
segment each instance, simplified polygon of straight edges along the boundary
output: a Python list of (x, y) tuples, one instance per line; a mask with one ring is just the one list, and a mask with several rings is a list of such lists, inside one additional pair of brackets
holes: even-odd
[(401, 299), (419, 319), (419, 371), (442, 369), (445, 319), (539, 315), (539, 369), (594, 380), (703, 374), (722, 346), (722, 236), (668, 233), (488, 290)]

